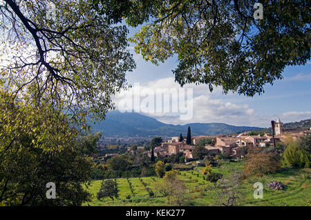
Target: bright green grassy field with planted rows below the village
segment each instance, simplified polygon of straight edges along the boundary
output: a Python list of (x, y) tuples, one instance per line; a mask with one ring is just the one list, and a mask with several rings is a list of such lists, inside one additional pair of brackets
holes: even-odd
[[(202, 168), (200, 168), (202, 169)], [(223, 163), (220, 167), (212, 168), (212, 172), (220, 172), (224, 177), (228, 177), (232, 170), (243, 170), (243, 161)], [(192, 173), (191, 173), (192, 172)], [(241, 206), (310, 206), (311, 188), (310, 188), (311, 169), (285, 169), (275, 174), (267, 174), (264, 177), (251, 177), (245, 179), (242, 183), (242, 192), (244, 199)], [(200, 172), (181, 171), (178, 177), (185, 182), (187, 186), (183, 205), (185, 206), (218, 206), (216, 189), (212, 183), (205, 181)], [(112, 201), (110, 198), (96, 199), (96, 193), (100, 190), (102, 181), (92, 181), (87, 187), (93, 194), (91, 203), (84, 203), (84, 206), (167, 206), (167, 198), (161, 197), (157, 192), (155, 183), (162, 181), (158, 177), (142, 177), (147, 188), (154, 192), (153, 197), (142, 185), (139, 178), (129, 178), (133, 186), (133, 195), (129, 188), (126, 178), (117, 179), (119, 186), (119, 198)], [(265, 184), (269, 181), (281, 181), (286, 185), (285, 190), (272, 190)], [(263, 199), (254, 199), (252, 188), (256, 182), (263, 183)], [(126, 195), (131, 195), (131, 199), (126, 199)]]

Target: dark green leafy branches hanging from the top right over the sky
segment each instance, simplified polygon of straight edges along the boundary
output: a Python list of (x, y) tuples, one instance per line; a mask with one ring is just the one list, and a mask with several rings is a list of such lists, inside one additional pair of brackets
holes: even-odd
[(158, 65), (177, 55), (181, 86), (254, 96), (286, 66), (304, 65), (311, 46), (309, 1), (263, 0), (263, 19), (254, 18), (256, 2), (136, 0), (122, 16), (143, 24), (130, 40), (145, 60)]

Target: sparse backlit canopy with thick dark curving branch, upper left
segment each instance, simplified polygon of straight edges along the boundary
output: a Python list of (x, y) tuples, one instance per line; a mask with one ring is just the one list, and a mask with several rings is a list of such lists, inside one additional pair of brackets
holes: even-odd
[[(48, 3), (55, 19), (46, 16)], [(37, 103), (50, 100), (79, 121), (104, 119), (135, 63), (127, 28), (102, 10), (88, 0), (1, 1), (1, 83), (15, 96), (31, 90)]]

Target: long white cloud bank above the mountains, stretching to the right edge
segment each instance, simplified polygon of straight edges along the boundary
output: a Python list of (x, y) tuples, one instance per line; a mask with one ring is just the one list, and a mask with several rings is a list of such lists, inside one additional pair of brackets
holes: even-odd
[[(234, 101), (224, 101), (224, 99), (215, 99), (215, 94), (222, 94), (221, 88), (217, 88), (211, 94), (207, 89), (206, 85), (195, 86), (194, 84), (189, 84), (184, 88), (187, 90), (189, 88), (193, 89), (193, 97), (191, 101), (193, 103), (193, 112), (191, 112), (192, 117), (189, 120), (181, 120), (180, 112), (148, 112), (146, 110), (145, 103), (142, 102), (144, 99), (145, 102), (148, 102), (147, 93), (151, 92), (152, 94), (158, 94), (157, 89), (167, 88), (167, 91), (178, 90), (180, 85), (176, 83), (173, 77), (168, 77), (164, 79), (158, 79), (156, 81), (149, 81), (149, 83), (140, 84), (140, 92), (145, 93), (141, 97), (140, 102), (136, 103), (136, 107), (144, 109), (142, 114), (146, 114), (150, 117), (154, 117), (159, 121), (164, 123), (173, 123), (173, 124), (186, 124), (186, 123), (227, 123), (234, 126), (256, 126), (256, 127), (270, 127), (270, 121), (276, 120), (277, 117), (280, 117), (282, 122), (291, 122), (291, 121), (301, 121), (302, 119), (311, 118), (311, 112), (280, 112), (279, 115), (276, 114), (259, 114), (256, 112), (252, 106), (247, 104), (236, 104)], [(120, 103), (131, 104), (131, 107), (135, 105), (133, 101), (133, 94), (139, 95), (138, 91), (135, 91), (134, 88), (130, 90), (132, 92), (132, 97), (129, 96), (129, 91), (121, 92), (115, 96), (115, 103), (119, 110), (122, 110), (122, 105)], [(146, 93), (147, 92), (147, 93)], [(172, 106), (178, 106), (176, 101), (172, 100), (170, 97), (170, 110), (173, 109)], [(230, 99), (229, 99), (230, 100)], [(151, 100), (153, 101), (153, 100)], [(157, 105), (158, 103), (156, 103)], [(124, 108), (123, 108), (124, 110)], [(131, 110), (131, 108), (127, 108)]]

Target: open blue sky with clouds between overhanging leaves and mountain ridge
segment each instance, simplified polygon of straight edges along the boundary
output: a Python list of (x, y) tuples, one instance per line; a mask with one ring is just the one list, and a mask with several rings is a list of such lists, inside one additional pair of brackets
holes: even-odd
[[(131, 30), (131, 36), (135, 30)], [(134, 54), (137, 68), (126, 76), (131, 85), (140, 83), (145, 88), (180, 88), (174, 83), (171, 70), (177, 66), (177, 58), (155, 66), (135, 54), (133, 45), (129, 50)], [(222, 93), (221, 88), (209, 92), (207, 86), (188, 85), (194, 90), (194, 112), (191, 119), (180, 120), (178, 114), (152, 114), (151, 117), (164, 123), (185, 124), (192, 122), (222, 122), (234, 126), (270, 126), (271, 120), (280, 117), (282, 122), (300, 121), (311, 118), (311, 61), (305, 66), (288, 66), (283, 79), (267, 84), (265, 92), (254, 97)], [(116, 103), (118, 99), (116, 98)], [(141, 112), (142, 113), (142, 112)]]

